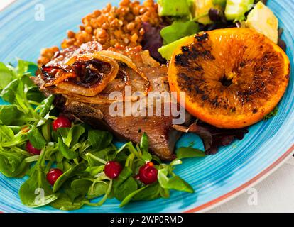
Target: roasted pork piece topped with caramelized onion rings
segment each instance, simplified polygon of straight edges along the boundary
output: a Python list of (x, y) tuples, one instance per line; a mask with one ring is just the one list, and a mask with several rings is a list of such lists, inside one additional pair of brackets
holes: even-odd
[[(126, 100), (138, 101), (126, 94), (143, 96), (150, 92), (168, 92), (168, 67), (161, 66), (141, 48), (116, 47), (102, 50), (97, 42), (80, 48), (71, 47), (57, 52), (44, 65), (33, 81), (44, 94), (57, 94), (57, 106), (65, 114), (89, 123), (94, 128), (107, 128), (117, 138), (139, 143), (141, 135), (148, 135), (150, 148), (162, 160), (173, 160), (175, 143), (180, 133), (172, 128), (173, 116), (164, 111), (166, 100), (160, 98), (158, 116), (129, 116)], [(114, 75), (115, 73), (115, 75)], [(111, 92), (124, 94), (121, 100), (109, 100)], [(171, 104), (171, 101), (169, 101)], [(122, 104), (123, 116), (113, 116), (111, 105)], [(156, 113), (154, 101), (139, 105), (136, 113), (147, 109)], [(170, 108), (178, 108), (171, 104)], [(185, 116), (187, 121), (188, 118)]]

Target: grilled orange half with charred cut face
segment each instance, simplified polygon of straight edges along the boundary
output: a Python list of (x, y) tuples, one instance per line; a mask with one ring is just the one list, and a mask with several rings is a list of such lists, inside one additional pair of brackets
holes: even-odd
[(288, 56), (266, 36), (226, 28), (191, 37), (175, 50), (168, 79), (171, 91), (185, 92), (185, 108), (196, 118), (243, 128), (275, 108), (289, 73)]

